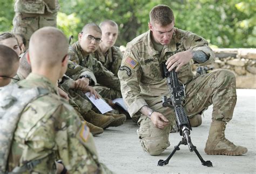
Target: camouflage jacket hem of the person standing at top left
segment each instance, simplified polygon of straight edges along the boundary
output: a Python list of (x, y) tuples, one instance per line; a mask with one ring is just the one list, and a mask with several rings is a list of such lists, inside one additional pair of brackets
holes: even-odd
[(55, 13), (59, 11), (58, 0), (16, 0), (15, 12), (44, 14), (45, 11)]

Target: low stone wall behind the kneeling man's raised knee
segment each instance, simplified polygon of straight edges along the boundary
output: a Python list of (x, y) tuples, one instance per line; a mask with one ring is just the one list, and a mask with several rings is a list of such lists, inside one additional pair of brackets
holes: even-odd
[[(237, 88), (256, 89), (256, 49), (213, 49), (216, 60), (208, 68), (228, 69), (237, 78)], [(194, 67), (196, 69), (196, 67)]]

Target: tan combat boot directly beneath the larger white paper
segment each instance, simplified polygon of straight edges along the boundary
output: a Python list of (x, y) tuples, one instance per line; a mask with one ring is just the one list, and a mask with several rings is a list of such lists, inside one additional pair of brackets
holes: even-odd
[(114, 118), (112, 116), (110, 117), (103, 114), (98, 114), (92, 110), (88, 111), (84, 115), (84, 119), (86, 121), (89, 121), (91, 124), (101, 127), (103, 129), (114, 121)]

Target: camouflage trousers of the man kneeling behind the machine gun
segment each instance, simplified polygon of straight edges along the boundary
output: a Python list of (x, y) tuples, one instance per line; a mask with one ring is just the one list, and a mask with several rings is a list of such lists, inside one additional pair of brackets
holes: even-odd
[[(187, 115), (194, 115), (213, 105), (212, 120), (230, 121), (232, 119), (237, 94), (235, 76), (227, 70), (214, 71), (194, 78), (186, 85)], [(167, 88), (167, 87), (166, 87)], [(150, 106), (152, 110), (162, 113), (169, 121), (169, 126), (160, 129), (153, 125), (146, 115), (140, 117), (137, 133), (144, 151), (150, 155), (159, 155), (170, 146), (169, 134), (174, 123), (174, 110), (157, 103)]]

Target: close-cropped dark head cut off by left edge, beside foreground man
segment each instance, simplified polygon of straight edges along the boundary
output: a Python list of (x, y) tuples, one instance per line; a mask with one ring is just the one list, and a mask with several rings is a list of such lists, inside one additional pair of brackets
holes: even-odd
[(13, 49), (0, 44), (0, 89), (14, 78), (19, 67), (18, 55)]

